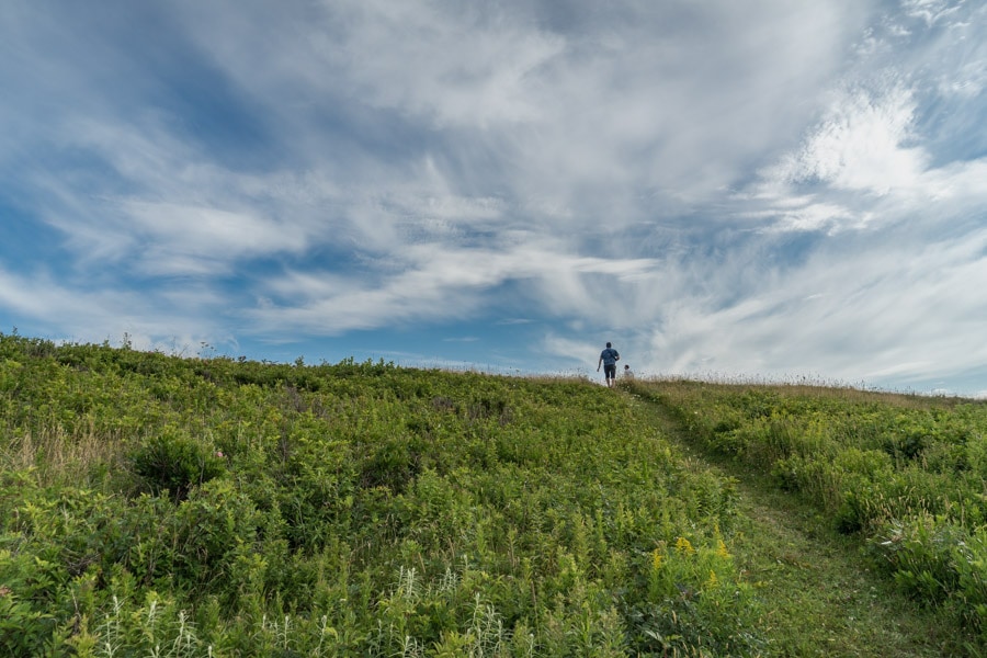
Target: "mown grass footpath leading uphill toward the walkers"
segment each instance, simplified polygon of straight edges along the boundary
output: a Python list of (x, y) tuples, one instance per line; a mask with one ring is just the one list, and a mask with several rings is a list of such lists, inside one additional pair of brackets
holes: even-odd
[(643, 415), (696, 470), (736, 480), (738, 518), (730, 549), (763, 603), (771, 656), (950, 656), (955, 640), (928, 611), (869, 568), (859, 542), (763, 473), (704, 451), (660, 404)]

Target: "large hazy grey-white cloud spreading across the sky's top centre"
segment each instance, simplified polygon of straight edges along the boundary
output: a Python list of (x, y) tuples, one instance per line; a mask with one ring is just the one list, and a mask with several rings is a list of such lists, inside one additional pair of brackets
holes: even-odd
[[(338, 148), (320, 133), (320, 106), (365, 109), (368, 121), (424, 131), (443, 175), (474, 192), (453, 194), (508, 198), (556, 230), (604, 212), (614, 226), (638, 220), (635, 188), (658, 203), (707, 196), (787, 140), (780, 128), (812, 107), (778, 107), (818, 94), (864, 16), (858, 7), (683, 2), (667, 10), (682, 22), (669, 29), (634, 3), (556, 21), (543, 4), (337, 2), (304, 19), (224, 21), (218, 37), (218, 8), (184, 24), (308, 158)], [(347, 157), (340, 173), (368, 173), (366, 154)]]

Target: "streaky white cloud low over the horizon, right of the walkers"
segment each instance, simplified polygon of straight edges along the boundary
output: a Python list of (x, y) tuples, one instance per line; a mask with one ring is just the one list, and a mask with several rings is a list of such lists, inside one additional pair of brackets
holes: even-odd
[[(688, 291), (636, 338), (651, 372), (825, 374), (847, 382), (948, 376), (987, 361), (987, 231), (963, 242), (833, 247), (716, 308)], [(639, 361), (644, 361), (639, 359)]]

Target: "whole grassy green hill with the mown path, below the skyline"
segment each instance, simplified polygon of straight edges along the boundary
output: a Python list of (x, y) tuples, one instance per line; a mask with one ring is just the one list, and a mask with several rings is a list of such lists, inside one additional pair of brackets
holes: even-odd
[(0, 334), (0, 654), (979, 655), (985, 428)]

